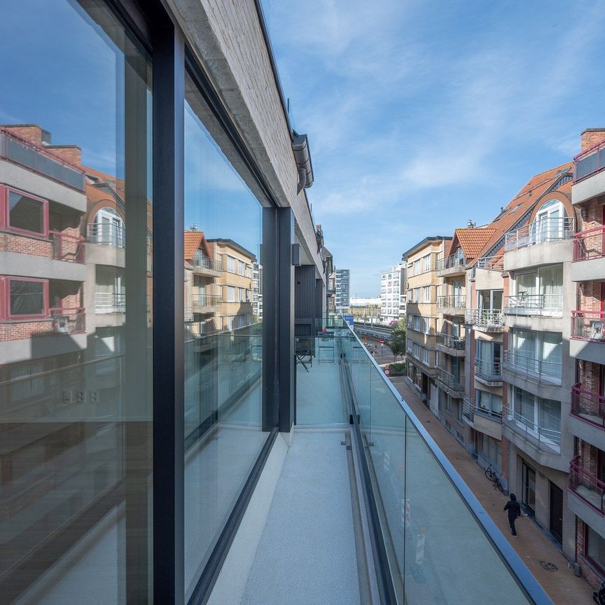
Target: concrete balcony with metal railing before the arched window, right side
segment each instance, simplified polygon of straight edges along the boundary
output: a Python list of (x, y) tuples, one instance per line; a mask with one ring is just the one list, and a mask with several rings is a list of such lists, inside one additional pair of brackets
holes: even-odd
[(543, 218), (506, 234), (504, 270), (571, 260), (573, 218)]

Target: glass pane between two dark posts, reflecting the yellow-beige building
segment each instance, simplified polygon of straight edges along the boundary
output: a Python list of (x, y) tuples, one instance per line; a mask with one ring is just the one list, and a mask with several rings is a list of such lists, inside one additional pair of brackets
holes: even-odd
[[(261, 430), (262, 207), (190, 78), (185, 99), (185, 592), (267, 433)], [(221, 135), (223, 146), (210, 133)], [(326, 349), (319, 352), (327, 355)]]

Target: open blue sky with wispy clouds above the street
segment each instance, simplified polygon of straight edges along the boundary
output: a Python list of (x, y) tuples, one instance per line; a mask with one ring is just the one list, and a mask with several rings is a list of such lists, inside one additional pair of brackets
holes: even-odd
[(263, 0), (308, 195), (352, 294), (426, 235), (487, 223), (605, 127), (605, 2)]

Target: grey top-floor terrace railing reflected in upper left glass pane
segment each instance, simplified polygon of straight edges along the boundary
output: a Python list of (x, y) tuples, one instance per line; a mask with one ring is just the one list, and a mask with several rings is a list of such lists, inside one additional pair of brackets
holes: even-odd
[(0, 129), (0, 158), (10, 160), (68, 187), (84, 190), (84, 171), (62, 162), (59, 158), (25, 139)]

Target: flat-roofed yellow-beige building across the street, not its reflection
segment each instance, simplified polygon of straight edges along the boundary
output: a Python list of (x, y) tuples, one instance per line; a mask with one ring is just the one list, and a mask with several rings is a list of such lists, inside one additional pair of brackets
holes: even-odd
[(408, 333), (406, 380), (438, 414), (436, 343), (438, 326), (437, 259), (445, 256), (451, 237), (425, 237), (403, 253), (407, 291)]

